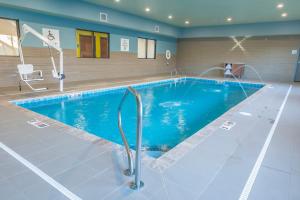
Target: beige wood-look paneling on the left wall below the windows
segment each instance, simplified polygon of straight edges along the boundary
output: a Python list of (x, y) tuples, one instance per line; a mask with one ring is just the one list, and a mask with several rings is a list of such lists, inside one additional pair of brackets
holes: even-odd
[[(35, 69), (43, 70), (44, 83), (56, 81), (51, 76), (52, 65), (47, 48), (24, 48), (23, 51), (26, 63), (33, 64)], [(56, 56), (58, 65), (57, 58)], [(18, 84), (19, 63), (19, 57), (0, 57), (0, 87)], [(162, 54), (157, 55), (156, 59), (138, 59), (134, 53), (123, 52), (111, 52), (109, 59), (76, 58), (75, 50), (65, 49), (64, 65), (66, 82), (94, 81), (170, 73), (176, 66), (176, 58), (173, 56), (169, 65)]]

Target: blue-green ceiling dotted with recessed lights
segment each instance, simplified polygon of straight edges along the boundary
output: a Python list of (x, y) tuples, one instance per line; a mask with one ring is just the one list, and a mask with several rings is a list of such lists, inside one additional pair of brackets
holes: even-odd
[[(300, 20), (300, 0), (83, 0), (180, 27)], [(276, 6), (284, 3), (282, 9)], [(146, 12), (145, 8), (150, 8)], [(288, 13), (286, 18), (282, 13)], [(173, 19), (168, 19), (172, 15)], [(228, 17), (232, 18), (227, 22)], [(190, 22), (189, 25), (185, 21)]]

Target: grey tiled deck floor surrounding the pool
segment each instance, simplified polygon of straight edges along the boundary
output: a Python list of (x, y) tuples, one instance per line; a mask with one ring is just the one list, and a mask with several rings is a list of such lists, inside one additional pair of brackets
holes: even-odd
[[(85, 85), (79, 90), (122, 84)], [(145, 187), (140, 191), (129, 189), (133, 177), (122, 174), (123, 148), (8, 103), (45, 93), (7, 92), (0, 97), (0, 142), (81, 199), (239, 199), (288, 88), (267, 86), (163, 157), (144, 155)], [(300, 199), (299, 104), (300, 87), (295, 84), (249, 199)], [(27, 123), (33, 118), (50, 126), (37, 129)], [(226, 120), (236, 122), (230, 131), (219, 128)], [(68, 199), (3, 149), (0, 160), (0, 199)]]

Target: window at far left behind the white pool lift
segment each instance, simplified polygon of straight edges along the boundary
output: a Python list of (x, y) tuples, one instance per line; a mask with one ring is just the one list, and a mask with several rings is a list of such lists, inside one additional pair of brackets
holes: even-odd
[(0, 18), (0, 56), (18, 56), (18, 22)]

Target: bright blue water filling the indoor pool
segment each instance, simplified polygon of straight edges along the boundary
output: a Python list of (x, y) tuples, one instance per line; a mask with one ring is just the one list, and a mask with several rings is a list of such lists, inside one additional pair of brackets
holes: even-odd
[[(243, 84), (248, 96), (262, 85)], [(188, 78), (137, 85), (143, 102), (143, 142), (150, 151), (167, 151), (246, 97), (237, 83)], [(125, 88), (16, 102), (101, 138), (122, 144), (117, 108)], [(123, 128), (131, 147), (136, 142), (136, 104), (128, 96), (122, 112)]]

